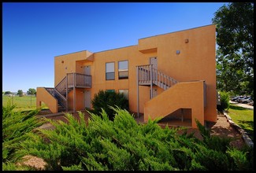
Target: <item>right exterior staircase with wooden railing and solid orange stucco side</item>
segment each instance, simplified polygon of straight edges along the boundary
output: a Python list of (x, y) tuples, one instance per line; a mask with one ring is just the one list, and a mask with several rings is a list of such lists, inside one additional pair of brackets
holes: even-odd
[[(144, 105), (144, 122), (149, 118), (154, 120), (158, 117), (173, 115), (180, 109), (191, 109), (191, 127), (196, 128), (195, 118), (204, 123), (204, 107), (206, 105), (206, 83), (204, 81), (179, 83), (169, 75), (165, 75), (153, 68), (152, 64), (137, 66), (138, 75), (138, 116), (139, 116), (139, 86), (150, 86), (150, 101)], [(152, 86), (159, 86), (164, 92), (157, 97), (152, 97)], [(197, 98), (195, 101), (192, 98)], [(193, 100), (193, 101), (191, 101)], [(159, 106), (161, 102), (161, 106)], [(198, 109), (201, 108), (201, 109)], [(202, 111), (200, 111), (202, 110)], [(183, 120), (183, 117), (180, 117)]]

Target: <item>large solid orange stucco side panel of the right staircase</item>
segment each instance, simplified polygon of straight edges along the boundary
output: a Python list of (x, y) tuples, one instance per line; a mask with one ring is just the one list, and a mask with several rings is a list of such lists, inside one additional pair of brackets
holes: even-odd
[(180, 108), (191, 109), (192, 128), (195, 119), (204, 125), (204, 81), (181, 82), (165, 90), (144, 105), (144, 122), (164, 118)]

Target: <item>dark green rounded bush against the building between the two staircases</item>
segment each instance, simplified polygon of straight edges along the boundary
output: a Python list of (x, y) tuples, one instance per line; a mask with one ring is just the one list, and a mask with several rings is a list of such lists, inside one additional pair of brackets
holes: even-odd
[(95, 94), (95, 98), (91, 101), (93, 112), (95, 114), (101, 115), (102, 109), (106, 111), (109, 116), (109, 120), (113, 120), (115, 112), (110, 109), (109, 106), (118, 106), (121, 109), (128, 110), (128, 100), (124, 97), (124, 94), (117, 92), (109, 92), (99, 90), (98, 94)]

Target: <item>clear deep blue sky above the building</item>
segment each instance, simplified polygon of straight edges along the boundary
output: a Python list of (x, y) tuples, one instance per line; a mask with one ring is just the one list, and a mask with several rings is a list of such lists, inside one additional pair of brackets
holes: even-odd
[(2, 3), (2, 90), (54, 87), (54, 57), (212, 24), (223, 2)]

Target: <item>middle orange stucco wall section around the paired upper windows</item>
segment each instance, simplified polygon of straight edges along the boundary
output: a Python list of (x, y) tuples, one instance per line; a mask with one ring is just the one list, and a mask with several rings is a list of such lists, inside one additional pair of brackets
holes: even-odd
[[(140, 53), (137, 46), (128, 46), (116, 50), (107, 50), (95, 53), (93, 62), (91, 88), (92, 96), (98, 93), (98, 90), (125, 90), (129, 91), (129, 106), (132, 112), (137, 111), (137, 85), (136, 85), (136, 65), (149, 64), (149, 57), (155, 57), (157, 53)], [(128, 60), (128, 79), (118, 79), (118, 61)], [(106, 62), (115, 63), (115, 80), (106, 80)], [(139, 86), (139, 112), (143, 112), (143, 104), (149, 101), (149, 87)]]

